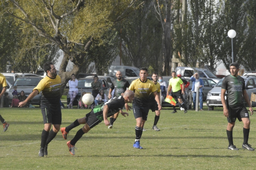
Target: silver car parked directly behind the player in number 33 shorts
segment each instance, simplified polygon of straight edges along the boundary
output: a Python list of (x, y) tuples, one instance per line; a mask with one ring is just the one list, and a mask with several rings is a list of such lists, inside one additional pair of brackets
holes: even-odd
[[(244, 78), (246, 92), (251, 100), (251, 93), (256, 92), (256, 76), (241, 76)], [(214, 107), (223, 107), (221, 103), (221, 85), (224, 78), (222, 78), (213, 89), (211, 89), (207, 94), (206, 105), (208, 110), (214, 110)], [(227, 94), (225, 95), (225, 99)], [(244, 101), (244, 104), (247, 106), (247, 103)], [(252, 107), (256, 106), (256, 102), (252, 102)]]

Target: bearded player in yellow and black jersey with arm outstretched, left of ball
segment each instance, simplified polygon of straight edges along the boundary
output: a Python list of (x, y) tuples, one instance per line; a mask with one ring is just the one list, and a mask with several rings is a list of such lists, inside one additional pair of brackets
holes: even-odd
[(61, 79), (60, 76), (57, 75), (57, 70), (52, 62), (45, 63), (44, 71), (47, 73), (47, 76), (38, 83), (38, 85), (33, 89), (33, 92), (30, 93), (25, 101), (20, 102), (18, 106), (25, 106), (28, 101), (42, 92), (41, 112), (44, 120), (44, 130), (41, 135), (39, 156), (48, 154), (47, 146), (51, 140), (55, 138), (61, 125)]

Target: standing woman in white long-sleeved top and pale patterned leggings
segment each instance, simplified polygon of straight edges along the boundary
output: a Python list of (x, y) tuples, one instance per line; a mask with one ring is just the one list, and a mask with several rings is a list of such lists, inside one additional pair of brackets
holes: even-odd
[(78, 94), (78, 80), (76, 80), (76, 76), (74, 74), (71, 75), (71, 79), (68, 81), (69, 91), (68, 94), (70, 96), (70, 103), (68, 104), (68, 108), (73, 109), (73, 101)]

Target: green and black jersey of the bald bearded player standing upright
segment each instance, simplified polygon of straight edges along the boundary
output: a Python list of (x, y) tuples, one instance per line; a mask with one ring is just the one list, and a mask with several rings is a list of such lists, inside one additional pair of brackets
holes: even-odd
[(124, 79), (121, 80), (121, 81), (117, 81), (117, 80), (113, 81), (111, 86), (110, 86), (110, 88), (112, 90), (115, 89), (113, 97), (121, 96), (121, 94), (124, 93), (125, 90), (127, 88), (129, 88), (129, 86), (130, 86), (130, 83), (127, 80), (124, 80)]

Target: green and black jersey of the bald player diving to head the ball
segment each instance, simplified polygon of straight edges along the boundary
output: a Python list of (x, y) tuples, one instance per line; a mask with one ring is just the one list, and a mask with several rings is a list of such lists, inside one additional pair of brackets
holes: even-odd
[(120, 110), (122, 110), (122, 108), (125, 105), (125, 101), (123, 96), (119, 96), (119, 97), (114, 97), (110, 100), (108, 100), (106, 103), (102, 103), (101, 105), (97, 105), (94, 107), (93, 113), (95, 114), (95, 116), (100, 120), (103, 121), (103, 108), (104, 105), (108, 105), (109, 110), (108, 110), (108, 117), (114, 115), (115, 113), (119, 112)]

